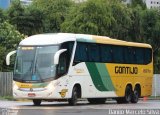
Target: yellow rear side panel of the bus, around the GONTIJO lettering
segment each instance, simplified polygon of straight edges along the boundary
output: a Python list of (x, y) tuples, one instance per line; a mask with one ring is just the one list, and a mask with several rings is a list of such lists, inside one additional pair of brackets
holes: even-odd
[(135, 85), (139, 84), (141, 87), (141, 96), (152, 94), (152, 64), (106, 64), (106, 67), (118, 96), (124, 96), (125, 88), (128, 84), (132, 85), (133, 90)]

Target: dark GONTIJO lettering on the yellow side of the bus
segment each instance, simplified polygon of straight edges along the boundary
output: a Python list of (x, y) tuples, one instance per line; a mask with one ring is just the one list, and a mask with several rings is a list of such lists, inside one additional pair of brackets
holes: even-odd
[(137, 67), (115, 66), (116, 74), (138, 74)]

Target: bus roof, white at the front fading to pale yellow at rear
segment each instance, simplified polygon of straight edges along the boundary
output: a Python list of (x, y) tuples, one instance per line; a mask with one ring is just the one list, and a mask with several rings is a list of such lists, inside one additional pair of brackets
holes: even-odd
[(112, 39), (105, 36), (73, 34), (73, 33), (50, 33), (38, 34), (25, 38), (19, 45), (23, 46), (38, 46), (38, 45), (53, 45), (67, 41), (80, 41), (89, 43), (114, 44), (122, 46), (135, 46), (151, 48), (151, 45), (145, 43), (127, 42), (118, 39)]

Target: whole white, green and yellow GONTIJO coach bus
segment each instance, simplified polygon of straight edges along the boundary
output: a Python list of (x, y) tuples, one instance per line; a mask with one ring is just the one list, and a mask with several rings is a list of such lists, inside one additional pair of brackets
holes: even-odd
[(137, 103), (152, 94), (152, 47), (105, 36), (48, 33), (25, 38), (16, 51), (13, 97), (42, 101), (68, 101), (76, 105)]

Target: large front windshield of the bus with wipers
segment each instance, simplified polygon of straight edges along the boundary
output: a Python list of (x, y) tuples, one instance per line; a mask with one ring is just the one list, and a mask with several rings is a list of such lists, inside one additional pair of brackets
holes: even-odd
[(54, 54), (59, 45), (18, 47), (14, 69), (14, 80), (23, 82), (42, 82), (56, 76)]

